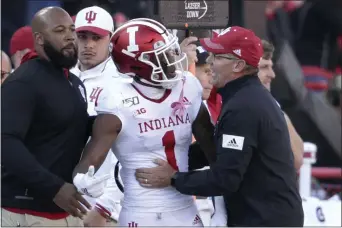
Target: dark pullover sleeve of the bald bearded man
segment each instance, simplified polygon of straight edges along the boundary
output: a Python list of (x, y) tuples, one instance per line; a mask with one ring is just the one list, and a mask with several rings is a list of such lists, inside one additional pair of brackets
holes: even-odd
[(1, 90), (2, 165), (23, 185), (52, 199), (64, 181), (45, 169), (24, 144), (35, 112), (34, 91), (18, 81), (4, 83)]

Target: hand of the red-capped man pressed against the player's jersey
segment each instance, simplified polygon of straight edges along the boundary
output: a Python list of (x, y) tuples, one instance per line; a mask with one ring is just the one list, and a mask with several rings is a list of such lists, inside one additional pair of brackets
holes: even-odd
[(176, 173), (167, 161), (156, 159), (154, 168), (141, 168), (135, 171), (140, 185), (147, 188), (164, 188), (171, 184), (171, 177)]

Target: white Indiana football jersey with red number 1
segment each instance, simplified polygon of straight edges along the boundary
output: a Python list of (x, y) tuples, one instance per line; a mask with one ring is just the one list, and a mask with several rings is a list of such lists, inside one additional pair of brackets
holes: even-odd
[(202, 103), (202, 86), (187, 73), (184, 81), (183, 115), (173, 115), (174, 102), (179, 101), (183, 81), (158, 100), (144, 96), (134, 85), (108, 85), (100, 93), (95, 110), (116, 115), (122, 129), (112, 150), (122, 165), (125, 188), (123, 207), (146, 212), (179, 210), (194, 203), (192, 196), (173, 187), (144, 188), (135, 179), (138, 168), (155, 167), (153, 160), (167, 160), (180, 172), (188, 171), (188, 150), (192, 140), (192, 123)]

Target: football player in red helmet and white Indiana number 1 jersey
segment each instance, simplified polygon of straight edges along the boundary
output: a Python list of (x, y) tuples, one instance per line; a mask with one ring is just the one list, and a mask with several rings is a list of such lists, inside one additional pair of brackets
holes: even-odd
[[(86, 172), (92, 165), (97, 169), (112, 148), (125, 186), (120, 226), (203, 226), (191, 196), (172, 187), (144, 188), (134, 176), (137, 168), (156, 166), (156, 158), (187, 171), (192, 133), (208, 160), (215, 159), (202, 86), (183, 69), (186, 55), (177, 37), (154, 20), (130, 20), (115, 31), (112, 42), (118, 71), (134, 81), (108, 82), (96, 99), (98, 116), (75, 169), (74, 184), (88, 193), (98, 189), (99, 181)], [(89, 180), (88, 185), (75, 181), (79, 179)]]

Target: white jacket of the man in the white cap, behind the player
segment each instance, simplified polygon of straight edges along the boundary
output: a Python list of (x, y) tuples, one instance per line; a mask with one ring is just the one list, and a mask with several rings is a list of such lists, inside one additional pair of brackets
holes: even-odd
[[(106, 82), (113, 80), (115, 83), (118, 83), (127, 80), (127, 78), (125, 78), (122, 74), (119, 75), (111, 57), (89, 70), (80, 71), (78, 66), (76, 66), (70, 71), (82, 80), (86, 88), (89, 116), (97, 115), (95, 111), (95, 101)], [(130, 82), (131, 81), (132, 79), (130, 79)], [(119, 211), (114, 205), (119, 204), (123, 194), (116, 186), (114, 179), (114, 168), (116, 162), (117, 158), (114, 156), (113, 152), (109, 151), (105, 161), (95, 173), (95, 176), (102, 176), (108, 173), (112, 175), (111, 179), (108, 181), (108, 189), (106, 193), (99, 198), (91, 198), (88, 196), (84, 197), (91, 205), (95, 205), (95, 203), (101, 204), (101, 206), (110, 211), (112, 213), (112, 217), (117, 220)]]

